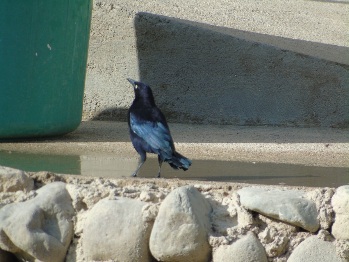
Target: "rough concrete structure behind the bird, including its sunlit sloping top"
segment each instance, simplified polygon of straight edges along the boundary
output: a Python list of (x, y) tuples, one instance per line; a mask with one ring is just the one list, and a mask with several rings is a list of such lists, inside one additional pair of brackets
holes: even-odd
[(169, 122), (349, 126), (347, 1), (95, 1), (84, 119), (125, 121), (126, 80)]

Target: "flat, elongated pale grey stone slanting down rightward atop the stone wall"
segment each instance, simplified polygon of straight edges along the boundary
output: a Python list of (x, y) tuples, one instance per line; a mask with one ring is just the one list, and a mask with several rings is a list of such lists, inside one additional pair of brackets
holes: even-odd
[(241, 204), (248, 209), (303, 227), (310, 232), (319, 228), (317, 208), (312, 201), (303, 198), (305, 192), (245, 187), (237, 193)]

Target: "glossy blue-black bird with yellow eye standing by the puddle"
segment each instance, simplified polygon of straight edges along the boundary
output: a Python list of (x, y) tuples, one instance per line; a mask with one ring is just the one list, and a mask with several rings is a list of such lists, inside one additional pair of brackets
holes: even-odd
[(133, 147), (141, 155), (141, 164), (132, 176), (137, 175), (138, 170), (146, 161), (147, 152), (158, 154), (159, 173), (157, 177), (160, 177), (163, 161), (169, 163), (173, 169), (187, 170), (192, 161), (174, 149), (169, 126), (164, 114), (155, 104), (150, 87), (129, 78), (127, 80), (132, 83), (135, 94), (135, 99), (127, 112), (128, 130)]

